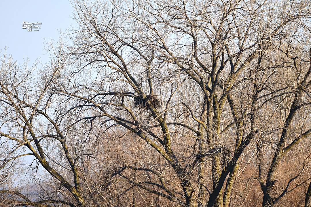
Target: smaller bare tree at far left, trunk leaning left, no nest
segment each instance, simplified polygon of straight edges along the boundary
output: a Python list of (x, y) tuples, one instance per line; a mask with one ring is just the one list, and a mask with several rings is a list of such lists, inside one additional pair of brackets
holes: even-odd
[[(58, 104), (54, 99), (57, 97), (49, 93), (51, 91), (49, 86), (58, 74), (59, 68), (62, 67), (62, 63), (56, 61), (52, 69), (46, 69), (50, 70), (48, 73), (34, 75), (36, 67), (29, 69), (27, 65), (24, 65), (24, 71), (21, 72), (21, 68), (16, 62), (12, 62), (11, 58), (4, 56), (1, 61), (2, 132), (0, 133), (3, 142), (11, 146), (8, 148), (11, 151), (7, 153), (8, 159), (4, 160), (4, 164), (21, 156), (33, 156), (35, 165), (40, 164), (58, 181), (59, 188), (66, 188), (75, 198), (77, 205), (84, 206), (80, 179), (75, 165), (77, 158), (73, 159), (69, 153), (64, 137), (64, 133), (67, 132), (58, 125), (58, 122), (63, 121), (58, 120), (63, 111), (61, 108), (57, 109), (59, 111), (54, 111), (55, 113), (49, 111), (49, 108), (54, 108), (54, 104)], [(69, 177), (68, 172), (70, 172)], [(74, 182), (70, 182), (72, 180)], [(53, 189), (48, 191), (53, 191)], [(71, 201), (56, 200), (53, 197), (31, 201), (19, 191), (2, 190), (1, 193), (18, 196), (17, 199), (12, 197), (15, 205), (42, 206), (44, 203), (63, 203), (75, 206)]]

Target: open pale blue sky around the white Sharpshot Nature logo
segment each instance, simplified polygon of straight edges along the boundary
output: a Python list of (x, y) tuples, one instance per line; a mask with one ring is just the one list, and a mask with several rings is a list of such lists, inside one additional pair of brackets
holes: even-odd
[[(28, 58), (28, 65), (35, 61), (42, 64), (49, 61), (50, 54), (44, 50), (44, 42), (58, 41), (66, 29), (75, 26), (72, 4), (68, 0), (12, 0), (0, 1), (0, 55), (12, 55), (13, 60), (22, 65)], [(42, 23), (40, 29), (27, 31), (22, 28), (22, 22)]]

